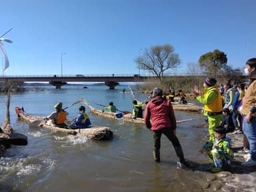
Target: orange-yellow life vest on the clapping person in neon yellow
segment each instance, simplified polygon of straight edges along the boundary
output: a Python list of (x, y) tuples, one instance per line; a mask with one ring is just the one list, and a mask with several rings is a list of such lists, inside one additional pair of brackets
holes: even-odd
[(222, 98), (221, 93), (219, 92), (218, 87), (209, 87), (207, 93), (205, 93), (205, 97), (209, 95), (210, 92), (216, 91), (217, 98), (213, 100), (213, 102), (209, 104), (205, 104), (205, 111), (209, 112), (221, 112), (222, 111)]

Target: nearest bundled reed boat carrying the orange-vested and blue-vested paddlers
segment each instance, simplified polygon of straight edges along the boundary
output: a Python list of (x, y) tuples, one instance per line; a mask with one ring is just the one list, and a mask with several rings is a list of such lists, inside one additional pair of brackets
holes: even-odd
[(19, 107), (16, 107), (15, 110), (19, 119), (23, 119), (23, 121), (31, 123), (29, 127), (35, 127), (35, 125), (37, 125), (39, 127), (51, 129), (53, 131), (68, 133), (72, 135), (81, 135), (95, 140), (109, 140), (113, 138), (113, 131), (111, 131), (109, 127), (91, 126), (85, 129), (65, 129), (53, 125), (47, 125), (43, 117), (28, 115), (24, 113)]

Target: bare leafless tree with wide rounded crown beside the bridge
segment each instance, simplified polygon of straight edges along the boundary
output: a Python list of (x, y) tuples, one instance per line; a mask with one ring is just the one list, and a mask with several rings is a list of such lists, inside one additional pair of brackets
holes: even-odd
[(143, 55), (137, 57), (135, 62), (139, 69), (145, 69), (155, 74), (161, 83), (163, 83), (163, 73), (181, 63), (179, 55), (174, 53), (174, 48), (169, 44), (145, 49)]

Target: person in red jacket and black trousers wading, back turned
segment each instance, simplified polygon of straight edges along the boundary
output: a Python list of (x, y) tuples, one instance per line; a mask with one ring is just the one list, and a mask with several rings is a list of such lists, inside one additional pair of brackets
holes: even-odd
[(164, 134), (173, 143), (176, 155), (179, 157), (178, 165), (183, 164), (189, 167), (190, 165), (184, 158), (181, 144), (176, 136), (177, 125), (173, 106), (162, 96), (163, 90), (155, 87), (153, 98), (147, 104), (144, 115), (145, 125), (153, 131), (153, 157), (157, 163), (160, 162), (161, 135)]

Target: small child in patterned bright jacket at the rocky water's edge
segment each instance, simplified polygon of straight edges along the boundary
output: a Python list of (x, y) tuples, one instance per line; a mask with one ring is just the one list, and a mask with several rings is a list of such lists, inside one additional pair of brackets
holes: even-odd
[(233, 160), (233, 151), (231, 150), (231, 139), (226, 137), (226, 129), (223, 126), (215, 127), (216, 141), (207, 141), (201, 150), (201, 153), (213, 159), (214, 167), (211, 169), (213, 173), (222, 171), (223, 165), (230, 165)]

